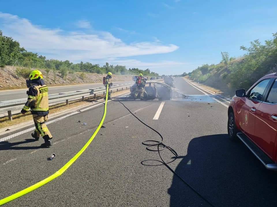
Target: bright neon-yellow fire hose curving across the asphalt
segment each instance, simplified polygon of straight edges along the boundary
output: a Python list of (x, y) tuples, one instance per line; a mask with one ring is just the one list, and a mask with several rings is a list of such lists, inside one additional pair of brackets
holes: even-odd
[(91, 141), (94, 139), (94, 137), (97, 135), (98, 131), (100, 130), (105, 117), (106, 117), (106, 111), (107, 111), (107, 101), (108, 101), (108, 85), (107, 85), (107, 89), (106, 89), (106, 101), (105, 101), (105, 106), (104, 106), (104, 114), (102, 116), (102, 120), (99, 123), (97, 129), (94, 131), (94, 133), (92, 134), (92, 136), (90, 137), (90, 139), (87, 141), (87, 143), (83, 146), (83, 148), (73, 157), (71, 158), (71, 160), (69, 160), (61, 169), (59, 169), (56, 173), (54, 173), (53, 175), (50, 175), (49, 177), (45, 178), (44, 180), (35, 183), (34, 185), (31, 185), (30, 187), (25, 188), (22, 191), (19, 191), (17, 193), (14, 193), (11, 196), (8, 196), (6, 198), (3, 198), (0, 200), (0, 206), (8, 203), (12, 200), (15, 200), (16, 198), (19, 198), (20, 196), (23, 196), (39, 187), (41, 187), (42, 185), (45, 185), (46, 183), (49, 183), (50, 181), (54, 180), (55, 178), (59, 177), (60, 175), (62, 175), (65, 170), (67, 170), (70, 165), (72, 165), (77, 159), (78, 157), (87, 149), (87, 147), (89, 146), (89, 144), (91, 143)]

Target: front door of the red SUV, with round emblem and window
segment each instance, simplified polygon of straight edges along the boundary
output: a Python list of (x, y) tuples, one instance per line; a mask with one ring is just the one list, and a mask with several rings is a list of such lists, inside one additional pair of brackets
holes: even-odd
[(242, 98), (242, 106), (239, 112), (239, 126), (250, 139), (254, 138), (256, 110), (261, 104), (269, 81), (270, 78), (261, 80), (248, 91), (246, 97)]

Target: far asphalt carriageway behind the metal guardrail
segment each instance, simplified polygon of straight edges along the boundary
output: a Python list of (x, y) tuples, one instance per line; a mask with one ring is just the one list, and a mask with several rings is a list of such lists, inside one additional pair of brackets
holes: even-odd
[[(122, 83), (132, 83), (132, 81), (121, 81), (121, 82), (113, 82), (114, 85), (122, 84)], [(68, 85), (68, 86), (54, 86), (48, 87), (49, 94), (53, 93), (62, 93), (68, 91), (78, 91), (82, 89), (89, 89), (89, 88), (97, 88), (103, 87), (103, 83), (91, 83), (91, 84), (81, 84), (81, 85)], [(10, 99), (19, 99), (19, 98), (26, 98), (26, 91), (28, 89), (16, 89), (16, 90), (8, 90), (8, 91), (0, 91), (0, 101), (6, 101)]]

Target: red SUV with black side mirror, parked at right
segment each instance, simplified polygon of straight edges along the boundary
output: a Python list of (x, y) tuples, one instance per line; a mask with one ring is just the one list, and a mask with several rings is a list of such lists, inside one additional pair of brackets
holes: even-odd
[(228, 108), (228, 134), (238, 137), (269, 170), (277, 170), (277, 73), (239, 89)]

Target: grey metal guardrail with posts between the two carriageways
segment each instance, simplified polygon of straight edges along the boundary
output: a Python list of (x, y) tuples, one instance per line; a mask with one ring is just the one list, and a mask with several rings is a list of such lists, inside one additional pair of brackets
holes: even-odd
[[(133, 84), (134, 83), (114, 85), (111, 88), (111, 92), (127, 90)], [(98, 87), (98, 88), (84, 89), (84, 90), (78, 90), (78, 91), (69, 91), (65, 93), (49, 94), (48, 95), (49, 106), (53, 106), (55, 104), (60, 104), (64, 102), (66, 102), (66, 104), (68, 105), (68, 101), (74, 101), (78, 99), (82, 99), (82, 101), (84, 101), (84, 99), (87, 97), (93, 96), (94, 98), (96, 98), (99, 95), (102, 95), (102, 94), (104, 95), (105, 92), (106, 92), (105, 87)], [(15, 111), (22, 109), (26, 101), (27, 101), (27, 98), (0, 101), (0, 114), (8, 112), (9, 120), (12, 120), (12, 114), (18, 113)]]

